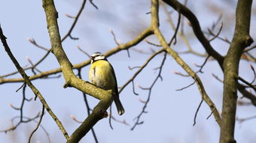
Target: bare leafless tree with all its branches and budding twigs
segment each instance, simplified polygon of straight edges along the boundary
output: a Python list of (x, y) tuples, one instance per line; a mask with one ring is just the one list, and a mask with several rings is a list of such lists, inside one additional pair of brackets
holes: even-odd
[[(13, 41), (7, 41), (6, 37), (4, 35), (5, 33), (8, 33), (8, 31), (5, 31), (5, 26), (1, 25), (2, 28), (0, 28), (0, 37), (2, 40), (3, 47), (5, 48), (5, 51), (8, 53), (8, 56), (11, 58), (11, 61), (13, 61), (15, 67), (17, 68), (17, 71), (14, 73), (8, 73), (6, 75), (1, 76), (0, 78), (0, 84), (6, 84), (6, 83), (14, 83), (14, 82), (22, 82), (23, 85), (17, 90), (19, 91), (21, 88), (23, 89), (23, 100), (20, 108), (12, 106), (14, 109), (17, 109), (20, 111), (20, 121), (18, 124), (14, 125), (13, 127), (2, 130), (2, 132), (8, 132), (11, 130), (17, 129), (20, 124), (28, 123), (30, 121), (37, 121), (38, 126), (35, 128), (35, 130), (31, 133), (29, 136), (29, 142), (32, 138), (33, 133), (38, 129), (38, 127), (41, 125), (41, 120), (44, 117), (44, 109), (46, 109), (46, 112), (53, 118), (53, 121), (55, 121), (56, 125), (59, 127), (59, 130), (62, 132), (62, 135), (66, 138), (66, 142), (72, 143), (72, 142), (79, 142), (84, 136), (87, 135), (87, 133), (92, 130), (93, 136), (96, 142), (98, 142), (96, 138), (96, 133), (93, 130), (93, 126), (97, 124), (98, 121), (100, 121), (102, 118), (107, 118), (108, 113), (106, 112), (109, 106), (111, 106), (111, 91), (105, 91), (101, 88), (97, 88), (96, 86), (90, 84), (89, 82), (84, 81), (81, 79), (81, 70), (88, 66), (90, 64), (90, 60), (81, 62), (79, 64), (72, 64), (69, 60), (68, 56), (66, 55), (66, 52), (62, 48), (62, 42), (66, 40), (67, 38), (70, 38), (72, 40), (78, 40), (78, 37), (72, 37), (72, 31), (75, 28), (75, 25), (78, 22), (79, 17), (81, 16), (82, 11), (84, 10), (84, 6), (87, 3), (86, 0), (84, 0), (81, 4), (81, 8), (78, 10), (78, 13), (76, 16), (69, 16), (70, 18), (73, 18), (74, 21), (69, 28), (69, 31), (61, 37), (59, 34), (59, 23), (57, 22), (58, 19), (58, 12), (57, 8), (54, 5), (53, 0), (43, 0), (43, 8), (46, 16), (47, 21), (47, 30), (50, 37), (50, 45), (51, 48), (47, 49), (43, 46), (40, 46), (36, 41), (32, 38), (29, 38), (29, 42), (33, 45), (37, 46), (40, 49), (44, 49), (46, 51), (45, 55), (36, 63), (33, 63), (29, 58), (27, 60), (29, 61), (30, 67), (21, 67), (19, 64), (19, 61), (14, 57), (14, 55), (11, 52), (11, 48), (8, 46), (8, 42)], [(98, 9), (97, 5), (93, 3), (92, 0), (90, 0), (90, 4), (93, 5), (96, 9)], [(111, 30), (111, 34), (114, 37), (114, 42), (117, 44), (117, 46), (113, 49), (110, 49), (108, 52), (105, 53), (107, 57), (110, 57), (114, 54), (119, 54), (121, 51), (125, 50), (127, 52), (127, 55), (130, 56), (130, 49), (132, 49), (134, 46), (136, 46), (139, 43), (147, 43), (150, 46), (158, 47), (157, 50), (148, 48), (145, 51), (139, 51), (138, 49), (135, 49), (136, 52), (139, 52), (140, 54), (146, 53), (149, 56), (149, 58), (145, 61), (144, 64), (140, 67), (130, 67), (130, 69), (138, 69), (136, 70), (136, 73), (133, 74), (133, 76), (130, 77), (127, 82), (120, 87), (119, 92), (122, 92), (124, 88), (126, 88), (127, 85), (132, 84), (133, 85), (133, 93), (136, 94), (135, 88), (135, 81), (136, 77), (142, 73), (142, 70), (145, 70), (145, 67), (148, 67), (148, 63), (152, 59), (154, 59), (157, 55), (163, 56), (163, 59), (160, 63), (160, 66), (157, 67), (157, 76), (152, 82), (152, 84), (148, 87), (142, 87), (139, 86), (142, 90), (148, 91), (148, 98), (145, 101), (142, 101), (143, 107), (141, 112), (138, 116), (135, 118), (135, 123), (133, 124), (131, 130), (134, 130), (137, 126), (140, 124), (143, 124), (142, 121), (142, 115), (146, 113), (146, 108), (148, 106), (148, 103), (150, 101), (151, 97), (151, 91), (154, 88), (154, 85), (158, 80), (163, 80), (163, 77), (161, 75), (162, 69), (166, 63), (166, 57), (171, 56), (177, 64), (179, 64), (182, 69), (186, 72), (179, 73), (175, 72), (177, 75), (180, 76), (187, 76), (194, 80), (193, 83), (187, 85), (184, 88), (179, 89), (179, 91), (184, 90), (185, 88), (189, 88), (191, 85), (197, 85), (198, 91), (200, 92), (201, 102), (200, 105), (197, 108), (197, 112), (194, 115), (194, 125), (196, 124), (197, 119), (197, 113), (200, 109), (200, 106), (203, 102), (205, 102), (209, 109), (211, 109), (211, 115), (215, 118), (215, 121), (218, 124), (218, 127), (220, 128), (220, 143), (234, 143), (236, 142), (234, 132), (235, 132), (235, 123), (236, 121), (245, 121), (248, 119), (237, 119), (236, 118), (236, 107), (237, 107), (237, 97), (238, 92), (242, 94), (242, 97), (245, 97), (246, 99), (250, 100), (249, 105), (256, 106), (256, 86), (255, 86), (255, 79), (256, 79), (256, 73), (254, 71), (254, 65), (255, 64), (255, 58), (254, 54), (252, 54), (252, 51), (256, 47), (255, 45), (251, 46), (251, 43), (253, 43), (253, 38), (250, 35), (250, 28), (251, 28), (251, 5), (252, 0), (239, 0), (236, 4), (236, 23), (235, 23), (235, 29), (233, 33), (233, 39), (227, 40), (227, 38), (221, 37), (221, 30), (223, 27), (223, 24), (220, 24), (221, 16), (218, 19), (216, 23), (212, 25), (212, 28), (209, 28), (209, 31), (203, 31), (200, 25), (199, 20), (197, 19), (197, 16), (186, 6), (187, 1), (184, 1), (184, 4), (181, 4), (181, 2), (176, 0), (151, 0), (151, 9), (147, 13), (151, 16), (150, 18), (150, 25), (146, 26), (145, 29), (142, 30), (142, 32), (136, 37), (133, 38), (133, 40), (130, 40), (126, 43), (120, 43), (120, 41), (117, 40), (116, 35), (114, 34), (114, 31)], [(160, 13), (160, 7), (163, 8), (163, 13)], [(169, 13), (169, 10), (174, 10), (172, 13)], [(149, 7), (148, 7), (149, 10)], [(177, 17), (177, 24), (175, 25), (170, 17), (170, 15), (176, 14)], [(163, 30), (160, 30), (160, 25), (163, 24), (163, 21), (160, 20), (159, 16), (166, 15), (168, 17), (169, 25), (172, 25), (173, 28), (173, 34), (171, 37), (165, 36), (165, 33)], [(178, 38), (181, 38), (181, 40), (186, 43), (187, 36), (184, 34), (184, 18), (186, 18), (189, 22), (189, 28), (193, 29), (193, 34), (195, 37), (197, 37), (197, 40), (199, 43), (202, 44), (206, 54), (200, 54), (196, 52), (194, 49), (190, 47), (189, 44), (187, 44), (188, 50), (185, 53), (190, 53), (194, 56), (201, 56), (205, 58), (202, 65), (197, 65), (197, 67), (200, 68), (198, 71), (192, 70), (190, 65), (188, 65), (182, 58), (181, 55), (184, 54), (184, 52), (177, 52), (172, 47), (175, 46), (176, 43), (178, 43), (180, 40)], [(217, 34), (215, 34), (215, 28), (217, 25), (220, 25), (220, 28), (218, 29)], [(3, 30), (2, 30), (3, 29)], [(167, 31), (171, 31), (169, 29), (166, 29)], [(4, 31), (4, 32), (3, 32)], [(151, 42), (151, 37), (154, 35), (154, 41)], [(224, 55), (221, 55), (215, 47), (212, 46), (213, 40), (221, 40), (224, 43), (227, 43), (229, 45), (229, 48), (227, 50), (227, 53)], [(81, 52), (85, 52), (86, 50), (78, 47)], [(148, 52), (149, 51), (149, 52)], [(47, 70), (42, 72), (41, 70), (38, 70), (38, 65), (41, 64), (42, 61), (48, 58), (48, 55), (50, 53), (53, 53), (56, 60), (59, 62), (59, 68), (53, 69), (53, 70)], [(221, 83), (223, 83), (223, 100), (222, 100), (222, 109), (218, 109), (218, 107), (215, 106), (215, 103), (210, 98), (208, 92), (206, 91), (205, 84), (200, 79), (200, 76), (198, 76), (198, 73), (203, 73), (203, 67), (206, 65), (206, 63), (209, 61), (217, 61), (218, 66), (221, 68), (224, 79), (218, 79), (217, 76), (215, 76), (216, 79), (220, 80)], [(239, 76), (239, 62), (241, 60), (247, 60), (251, 63), (251, 71), (254, 73), (254, 78), (248, 82), (247, 80), (243, 79), (241, 76)], [(27, 74), (27, 71), (31, 70), (32, 75)], [(76, 74), (74, 70), (77, 70), (78, 73)], [(20, 73), (22, 78), (9, 78), (10, 76), (16, 75), (17, 73)], [(63, 85), (63, 88), (75, 88), (78, 91), (81, 91), (84, 96), (84, 102), (87, 105), (87, 113), (88, 117), (84, 119), (83, 122), (81, 122), (81, 125), (73, 132), (68, 133), (66, 131), (66, 127), (62, 125), (62, 122), (59, 120), (59, 118), (53, 113), (50, 106), (47, 104), (47, 101), (44, 100), (44, 96), (41, 94), (40, 91), (38, 91), (38, 88), (35, 87), (35, 85), (32, 84), (32, 81), (35, 79), (50, 79), (50, 78), (59, 78), (59, 76), (52, 76), (56, 73), (62, 73), (62, 76), (65, 79), (65, 84)], [(42, 104), (42, 110), (38, 115), (36, 115), (33, 118), (26, 118), (23, 116), (23, 104), (27, 101), (30, 101), (32, 99), (27, 99), (25, 95), (25, 90), (27, 88), (31, 88), (32, 92), (35, 94), (35, 100), (37, 98), (41, 101)], [(252, 90), (252, 91), (251, 91)], [(90, 95), (92, 97), (95, 97), (99, 100), (99, 103), (93, 107), (93, 109), (90, 107), (90, 104), (87, 101), (87, 95)], [(240, 104), (243, 104), (242, 102)], [(111, 109), (111, 108), (110, 108)], [(220, 112), (221, 111), (221, 114)], [(208, 118), (209, 118), (208, 117)], [(72, 117), (75, 121), (76, 118)], [(252, 117), (254, 118), (254, 116)], [(114, 118), (114, 116), (110, 115), (109, 123), (111, 125), (111, 119), (113, 121), (120, 122), (122, 124), (127, 124), (126, 121), (119, 121), (117, 118)]]

